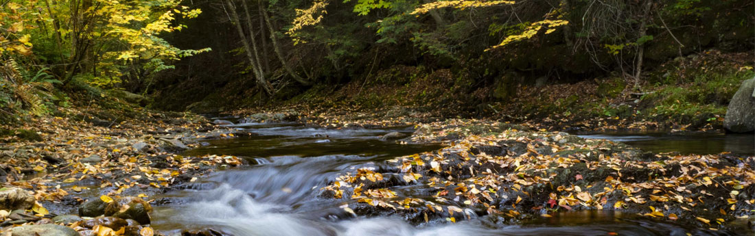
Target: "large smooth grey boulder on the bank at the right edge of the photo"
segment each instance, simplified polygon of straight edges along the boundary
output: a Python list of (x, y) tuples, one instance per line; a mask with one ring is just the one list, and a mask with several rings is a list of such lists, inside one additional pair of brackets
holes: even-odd
[(755, 131), (755, 79), (744, 80), (729, 102), (723, 128), (727, 132), (748, 133)]

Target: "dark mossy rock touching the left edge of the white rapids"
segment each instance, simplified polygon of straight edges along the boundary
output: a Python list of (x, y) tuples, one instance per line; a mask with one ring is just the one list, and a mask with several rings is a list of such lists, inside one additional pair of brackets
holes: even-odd
[(149, 224), (149, 211), (152, 206), (141, 198), (119, 198), (105, 207), (105, 216), (116, 216), (122, 219), (134, 219), (142, 225)]

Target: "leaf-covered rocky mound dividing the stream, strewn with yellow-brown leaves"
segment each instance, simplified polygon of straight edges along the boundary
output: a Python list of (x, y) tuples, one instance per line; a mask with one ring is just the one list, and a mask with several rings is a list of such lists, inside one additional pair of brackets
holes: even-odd
[[(322, 189), (358, 215), (421, 224), (485, 216), (519, 222), (572, 210), (618, 210), (724, 228), (755, 209), (753, 157), (661, 155), (557, 132), (501, 131), (448, 120), (405, 142), (447, 147), (347, 172)], [(473, 127), (489, 132), (475, 132)]]

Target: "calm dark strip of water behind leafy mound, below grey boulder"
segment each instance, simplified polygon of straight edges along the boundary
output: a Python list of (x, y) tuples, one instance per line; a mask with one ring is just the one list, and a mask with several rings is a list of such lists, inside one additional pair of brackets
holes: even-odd
[(614, 132), (578, 135), (582, 138), (608, 139), (654, 153), (755, 155), (755, 135), (719, 133), (632, 133)]

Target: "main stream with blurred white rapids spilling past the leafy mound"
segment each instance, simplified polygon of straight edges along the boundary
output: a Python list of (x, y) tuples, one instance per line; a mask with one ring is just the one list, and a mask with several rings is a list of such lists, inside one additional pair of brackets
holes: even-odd
[(347, 200), (318, 198), (335, 174), (381, 168), (396, 156), (437, 150), (439, 145), (379, 141), (388, 132), (411, 129), (313, 129), (297, 124), (236, 125), (252, 135), (211, 141), (186, 155), (243, 156), (249, 167), (217, 171), (162, 195), (169, 204), (155, 207), (153, 227), (177, 234), (181, 229), (213, 228), (243, 235), (725, 235), (732, 232), (686, 228), (610, 211), (565, 213), (506, 225), (482, 216), (458, 223), (410, 225), (390, 217), (351, 216)]

